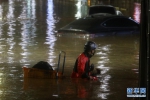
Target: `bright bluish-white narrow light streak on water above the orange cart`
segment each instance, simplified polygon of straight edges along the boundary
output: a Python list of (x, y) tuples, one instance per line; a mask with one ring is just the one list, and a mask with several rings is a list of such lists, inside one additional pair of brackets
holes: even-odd
[(46, 31), (46, 42), (45, 44), (47, 44), (48, 47), (48, 62), (54, 66), (54, 60), (56, 58), (56, 56), (54, 55), (54, 46), (55, 46), (55, 41), (56, 38), (54, 36), (54, 29), (55, 29), (55, 19), (54, 19), (54, 4), (53, 4), (53, 0), (48, 0), (47, 1), (47, 31)]

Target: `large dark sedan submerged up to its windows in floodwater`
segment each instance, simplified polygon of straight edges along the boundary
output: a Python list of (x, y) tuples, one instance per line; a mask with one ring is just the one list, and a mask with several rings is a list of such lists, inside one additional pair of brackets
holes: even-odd
[(139, 35), (140, 25), (127, 16), (97, 15), (77, 19), (60, 28), (57, 36), (99, 37)]

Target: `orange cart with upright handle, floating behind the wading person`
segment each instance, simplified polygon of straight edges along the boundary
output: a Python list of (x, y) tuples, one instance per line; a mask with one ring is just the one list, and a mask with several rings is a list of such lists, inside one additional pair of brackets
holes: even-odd
[[(64, 53), (63, 57), (63, 65), (62, 65), (62, 71), (59, 71), (60, 69), (60, 58), (61, 53)], [(41, 69), (41, 68), (28, 68), (26, 66), (23, 67), (23, 74), (24, 78), (62, 78), (64, 73), (64, 66), (65, 66), (65, 56), (66, 53), (64, 51), (60, 51), (59, 53), (59, 59), (58, 59), (58, 66), (56, 70), (47, 70), (47, 69)]]

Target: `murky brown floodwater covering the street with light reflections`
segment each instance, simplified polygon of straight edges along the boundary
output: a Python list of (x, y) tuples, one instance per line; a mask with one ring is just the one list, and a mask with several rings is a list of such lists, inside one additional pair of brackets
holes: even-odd
[[(86, 0), (0, 0), (0, 100), (138, 99), (126, 96), (128, 87), (138, 86), (138, 37), (56, 36), (57, 29), (86, 16), (88, 5), (94, 3), (94, 0), (91, 3)], [(101, 3), (115, 5), (124, 15), (140, 21), (138, 3), (120, 0)], [(74, 62), (87, 40), (98, 45), (91, 58), (95, 67), (101, 69), (98, 81), (70, 78)], [(60, 51), (66, 52), (63, 79), (23, 77), (22, 67), (32, 67), (39, 61), (47, 61), (56, 68)]]

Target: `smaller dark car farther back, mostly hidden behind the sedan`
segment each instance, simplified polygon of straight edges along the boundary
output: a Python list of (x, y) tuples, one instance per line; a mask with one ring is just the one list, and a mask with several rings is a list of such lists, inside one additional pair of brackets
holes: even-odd
[(93, 5), (89, 7), (89, 15), (97, 13), (108, 13), (112, 15), (123, 15), (121, 11), (117, 10), (114, 6), (111, 5)]

